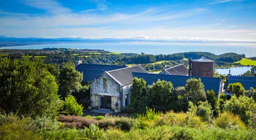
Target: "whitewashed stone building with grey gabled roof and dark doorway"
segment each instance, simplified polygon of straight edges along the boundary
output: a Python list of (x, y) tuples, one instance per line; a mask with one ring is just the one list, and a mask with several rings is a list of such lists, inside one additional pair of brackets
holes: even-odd
[[(94, 108), (118, 109), (126, 107), (132, 90), (132, 72), (147, 73), (139, 65), (105, 71), (91, 81), (91, 106)], [(117, 108), (116, 108), (116, 104)]]

